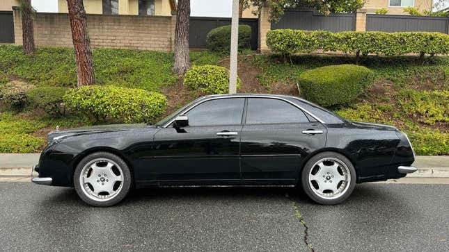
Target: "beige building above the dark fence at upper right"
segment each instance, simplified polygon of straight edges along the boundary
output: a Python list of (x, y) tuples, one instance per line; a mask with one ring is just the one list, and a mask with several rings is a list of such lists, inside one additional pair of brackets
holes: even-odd
[(386, 8), (387, 14), (400, 14), (404, 15), (404, 8), (414, 7), (420, 10), (430, 11), (432, 10), (432, 0), (368, 0), (365, 3), (365, 10), (368, 13), (374, 13), (376, 10)]

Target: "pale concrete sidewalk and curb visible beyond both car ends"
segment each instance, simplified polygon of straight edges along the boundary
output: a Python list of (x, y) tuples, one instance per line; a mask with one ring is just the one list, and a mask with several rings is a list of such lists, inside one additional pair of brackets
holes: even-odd
[[(38, 163), (39, 156), (40, 153), (0, 153), (1, 180), (28, 180), (31, 176), (31, 167)], [(449, 178), (449, 156), (416, 156), (413, 166), (417, 167), (418, 171), (408, 174), (407, 178), (418, 181), (420, 178), (423, 180)]]

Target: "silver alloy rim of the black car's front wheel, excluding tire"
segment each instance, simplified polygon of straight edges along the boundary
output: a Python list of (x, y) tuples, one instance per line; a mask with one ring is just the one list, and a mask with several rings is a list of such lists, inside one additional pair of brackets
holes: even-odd
[(84, 165), (79, 174), (79, 184), (88, 198), (109, 201), (122, 190), (123, 178), (123, 171), (116, 162), (97, 158)]

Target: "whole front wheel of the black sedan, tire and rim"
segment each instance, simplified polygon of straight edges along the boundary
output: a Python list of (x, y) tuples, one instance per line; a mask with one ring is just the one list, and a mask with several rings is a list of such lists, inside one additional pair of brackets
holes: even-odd
[(96, 152), (79, 162), (73, 181), (84, 202), (95, 207), (109, 207), (127, 196), (132, 176), (121, 158), (108, 152)]

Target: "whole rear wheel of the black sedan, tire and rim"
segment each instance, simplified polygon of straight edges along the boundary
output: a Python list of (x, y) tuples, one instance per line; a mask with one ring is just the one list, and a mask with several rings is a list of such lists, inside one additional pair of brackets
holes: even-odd
[(318, 153), (304, 165), (301, 185), (307, 196), (316, 203), (336, 205), (354, 191), (356, 170), (352, 162), (339, 153)]

